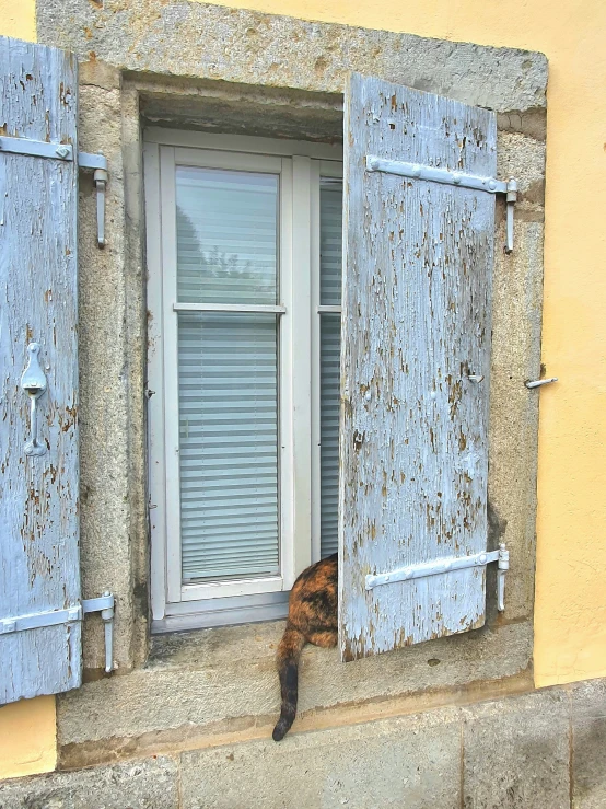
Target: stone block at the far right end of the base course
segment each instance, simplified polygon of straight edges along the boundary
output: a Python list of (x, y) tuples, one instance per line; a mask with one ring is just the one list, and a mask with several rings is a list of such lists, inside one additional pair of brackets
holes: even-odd
[(606, 807), (606, 681), (575, 686), (572, 704), (573, 809)]

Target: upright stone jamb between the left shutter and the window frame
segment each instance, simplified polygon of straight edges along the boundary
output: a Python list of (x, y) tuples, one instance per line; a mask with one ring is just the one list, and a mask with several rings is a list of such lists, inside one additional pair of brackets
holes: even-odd
[[(109, 162), (107, 245), (96, 244), (96, 195), (90, 173), (80, 181), (79, 362), (80, 525), (84, 598), (116, 596), (115, 658), (130, 666), (132, 582), (128, 401), (130, 390), (125, 299), (124, 174), (120, 90), (80, 85), (80, 148)], [(103, 663), (103, 624), (86, 619), (84, 668)]]

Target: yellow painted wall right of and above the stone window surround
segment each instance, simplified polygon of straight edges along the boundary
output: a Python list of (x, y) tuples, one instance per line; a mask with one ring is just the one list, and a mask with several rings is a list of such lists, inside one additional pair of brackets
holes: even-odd
[(560, 382), (539, 394), (535, 681), (606, 675), (605, 0), (218, 4), (548, 57), (543, 360)]

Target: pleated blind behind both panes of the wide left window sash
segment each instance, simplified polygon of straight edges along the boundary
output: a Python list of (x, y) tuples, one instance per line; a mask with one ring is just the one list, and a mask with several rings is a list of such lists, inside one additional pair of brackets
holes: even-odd
[[(180, 302), (273, 303), (275, 175), (177, 167)], [(179, 312), (184, 582), (279, 573), (275, 315)]]

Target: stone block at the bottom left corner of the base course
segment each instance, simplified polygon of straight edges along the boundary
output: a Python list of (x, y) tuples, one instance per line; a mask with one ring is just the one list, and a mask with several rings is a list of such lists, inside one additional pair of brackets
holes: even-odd
[(0, 809), (177, 809), (168, 758), (0, 783)]

